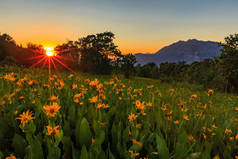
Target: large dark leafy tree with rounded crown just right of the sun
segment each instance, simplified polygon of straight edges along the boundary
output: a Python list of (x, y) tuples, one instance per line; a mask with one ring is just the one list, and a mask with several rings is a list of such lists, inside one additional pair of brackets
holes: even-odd
[(112, 32), (79, 38), (75, 43), (81, 53), (80, 68), (92, 73), (111, 73), (111, 61), (122, 56), (113, 42), (114, 38)]

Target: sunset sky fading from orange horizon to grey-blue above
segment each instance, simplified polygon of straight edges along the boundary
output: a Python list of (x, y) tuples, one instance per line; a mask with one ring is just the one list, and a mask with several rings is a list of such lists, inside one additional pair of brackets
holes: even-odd
[(238, 32), (238, 0), (0, 0), (0, 32), (18, 44), (57, 45), (112, 31), (123, 53)]

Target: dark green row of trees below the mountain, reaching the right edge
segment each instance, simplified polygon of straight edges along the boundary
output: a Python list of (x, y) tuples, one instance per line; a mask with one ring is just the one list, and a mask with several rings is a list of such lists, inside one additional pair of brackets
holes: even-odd
[(135, 67), (137, 76), (159, 79), (162, 82), (189, 82), (204, 88), (238, 93), (238, 34), (225, 37), (218, 57), (187, 64), (164, 62), (157, 66), (148, 63)]

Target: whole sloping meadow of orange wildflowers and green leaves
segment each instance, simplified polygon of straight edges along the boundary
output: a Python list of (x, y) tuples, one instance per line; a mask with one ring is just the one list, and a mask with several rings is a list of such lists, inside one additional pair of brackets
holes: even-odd
[(0, 159), (238, 158), (238, 97), (0, 67)]

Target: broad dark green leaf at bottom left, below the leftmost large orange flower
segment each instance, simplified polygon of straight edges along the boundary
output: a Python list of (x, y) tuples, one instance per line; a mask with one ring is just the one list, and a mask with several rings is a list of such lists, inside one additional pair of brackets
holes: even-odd
[(15, 134), (13, 137), (12, 147), (14, 148), (14, 151), (23, 158), (27, 142), (22, 136)]

